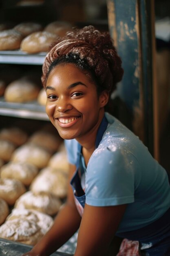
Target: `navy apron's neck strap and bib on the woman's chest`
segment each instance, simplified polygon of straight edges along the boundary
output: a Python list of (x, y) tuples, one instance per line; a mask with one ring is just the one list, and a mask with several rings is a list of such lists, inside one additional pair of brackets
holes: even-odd
[[(99, 146), (99, 143), (102, 140), (103, 134), (104, 134), (107, 126), (108, 126), (108, 121), (107, 121), (106, 117), (104, 116), (102, 119), (102, 122), (99, 126), (99, 129), (97, 131), (95, 148), (97, 148)], [(82, 146), (80, 144), (78, 144), (76, 171), (71, 179), (70, 184), (73, 189), (75, 204), (76, 204), (76, 207), (77, 207), (77, 210), (78, 210), (80, 216), (82, 216), (82, 214), (83, 214), (84, 206), (85, 206), (85, 202), (86, 202), (86, 195), (84, 192), (84, 188), (82, 188), (82, 185), (81, 185), (81, 178), (85, 171), (82, 161), (83, 161)]]

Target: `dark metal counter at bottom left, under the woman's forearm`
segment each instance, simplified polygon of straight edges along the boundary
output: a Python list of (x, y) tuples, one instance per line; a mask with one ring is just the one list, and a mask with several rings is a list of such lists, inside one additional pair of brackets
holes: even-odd
[[(0, 256), (21, 256), (29, 252), (32, 246), (0, 238)], [(63, 252), (55, 252), (52, 256), (71, 256)]]

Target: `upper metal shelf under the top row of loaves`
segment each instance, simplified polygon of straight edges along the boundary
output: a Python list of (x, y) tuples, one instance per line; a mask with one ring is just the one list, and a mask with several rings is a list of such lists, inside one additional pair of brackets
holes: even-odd
[(20, 50), (0, 51), (0, 63), (42, 65), (44, 63), (45, 56), (46, 52), (27, 54)]

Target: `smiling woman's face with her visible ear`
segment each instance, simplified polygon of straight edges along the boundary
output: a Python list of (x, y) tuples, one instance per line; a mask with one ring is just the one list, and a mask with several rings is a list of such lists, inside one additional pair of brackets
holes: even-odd
[(88, 137), (98, 128), (106, 95), (98, 97), (95, 83), (75, 65), (60, 64), (51, 70), (46, 95), (46, 113), (63, 139)]

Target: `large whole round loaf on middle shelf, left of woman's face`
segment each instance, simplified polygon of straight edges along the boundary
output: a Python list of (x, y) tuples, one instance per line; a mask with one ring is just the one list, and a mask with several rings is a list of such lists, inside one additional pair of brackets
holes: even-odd
[(8, 102), (27, 102), (37, 98), (40, 88), (27, 79), (18, 79), (7, 85), (4, 98)]

